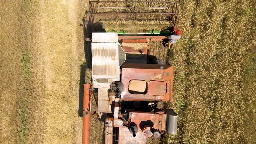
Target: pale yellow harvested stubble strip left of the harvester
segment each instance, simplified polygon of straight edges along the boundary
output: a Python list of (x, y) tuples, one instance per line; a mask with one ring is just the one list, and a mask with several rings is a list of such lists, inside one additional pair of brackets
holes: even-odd
[(12, 0), (0, 7), (0, 143), (81, 143), (87, 3)]

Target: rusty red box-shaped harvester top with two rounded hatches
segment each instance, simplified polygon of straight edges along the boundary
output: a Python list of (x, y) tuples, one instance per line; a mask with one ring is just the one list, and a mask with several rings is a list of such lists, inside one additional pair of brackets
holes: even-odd
[[(172, 83), (173, 83), (173, 66), (155, 64), (130, 64), (122, 65), (122, 83), (124, 89), (121, 100), (125, 101), (171, 101), (172, 100)], [(137, 81), (136, 81), (137, 80)], [(135, 81), (135, 82), (134, 82)], [(147, 83), (147, 92), (144, 94), (130, 92), (129, 85), (135, 83)], [(135, 88), (136, 89), (136, 88)], [(145, 89), (144, 89), (145, 91)]]

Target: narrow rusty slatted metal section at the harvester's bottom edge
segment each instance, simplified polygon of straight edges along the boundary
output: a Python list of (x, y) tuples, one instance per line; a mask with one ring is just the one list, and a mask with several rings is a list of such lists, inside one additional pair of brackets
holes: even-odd
[(105, 144), (113, 144), (114, 118), (112, 115), (106, 115), (105, 122)]

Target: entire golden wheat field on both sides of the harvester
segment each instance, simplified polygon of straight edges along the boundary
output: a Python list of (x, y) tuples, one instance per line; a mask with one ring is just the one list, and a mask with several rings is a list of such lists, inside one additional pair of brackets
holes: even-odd
[[(174, 65), (174, 100), (164, 107), (179, 115), (178, 131), (148, 143), (255, 144), (256, 1), (177, 6), (181, 39), (149, 52)], [(86, 10), (87, 0), (0, 1), (1, 144), (82, 142)], [(103, 123), (97, 115), (91, 122), (90, 141), (101, 144)]]

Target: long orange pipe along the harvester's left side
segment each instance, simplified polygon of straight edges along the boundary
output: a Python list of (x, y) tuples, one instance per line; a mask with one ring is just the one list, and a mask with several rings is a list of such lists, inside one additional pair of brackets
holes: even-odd
[(84, 85), (83, 101), (83, 141), (82, 144), (90, 143), (90, 84)]

